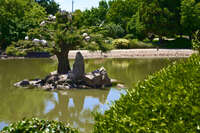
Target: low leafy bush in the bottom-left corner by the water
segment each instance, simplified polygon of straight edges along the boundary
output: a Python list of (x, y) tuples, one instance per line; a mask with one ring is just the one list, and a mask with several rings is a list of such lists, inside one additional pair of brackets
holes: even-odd
[(2, 133), (79, 133), (78, 130), (71, 128), (58, 121), (39, 120), (37, 118), (25, 119), (5, 127)]

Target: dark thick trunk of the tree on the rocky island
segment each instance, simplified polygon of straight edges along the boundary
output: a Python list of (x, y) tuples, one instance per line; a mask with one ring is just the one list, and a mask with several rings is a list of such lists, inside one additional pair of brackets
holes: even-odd
[(67, 74), (70, 71), (70, 64), (68, 59), (69, 51), (59, 52), (56, 54), (58, 58), (58, 74)]

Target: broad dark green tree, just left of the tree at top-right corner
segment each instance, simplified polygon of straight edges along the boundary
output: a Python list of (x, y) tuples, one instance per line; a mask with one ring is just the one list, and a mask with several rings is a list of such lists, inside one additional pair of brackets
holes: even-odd
[(144, 26), (145, 32), (162, 36), (173, 36), (179, 32), (180, 1), (170, 6), (172, 0), (144, 0), (140, 2), (137, 17), (138, 23)]

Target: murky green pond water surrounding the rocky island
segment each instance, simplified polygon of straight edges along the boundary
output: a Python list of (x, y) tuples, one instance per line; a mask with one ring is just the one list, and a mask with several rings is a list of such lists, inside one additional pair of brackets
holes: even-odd
[[(85, 60), (86, 71), (104, 66), (111, 78), (131, 88), (175, 59), (92, 59)], [(71, 64), (73, 61), (71, 61)], [(50, 59), (0, 60), (0, 130), (23, 118), (39, 117), (70, 123), (82, 132), (91, 132), (93, 111), (104, 112), (114, 100), (125, 94), (116, 87), (105, 90), (69, 90), (47, 92), (39, 89), (15, 88), (17, 81), (43, 78), (55, 70)]]

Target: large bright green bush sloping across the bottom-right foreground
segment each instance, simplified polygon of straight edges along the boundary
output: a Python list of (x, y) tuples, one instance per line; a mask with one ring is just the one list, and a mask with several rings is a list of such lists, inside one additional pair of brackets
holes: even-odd
[(200, 56), (174, 63), (128, 90), (104, 114), (95, 133), (200, 132)]

